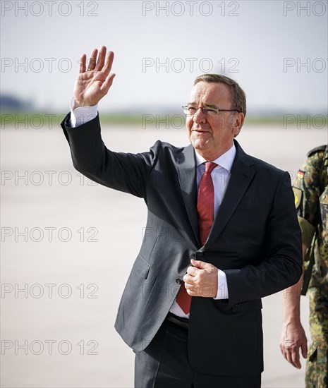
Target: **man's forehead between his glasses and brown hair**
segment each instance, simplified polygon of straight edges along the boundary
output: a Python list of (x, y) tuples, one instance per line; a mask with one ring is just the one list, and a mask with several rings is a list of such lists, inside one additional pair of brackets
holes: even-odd
[(190, 92), (189, 102), (198, 104), (231, 104), (231, 89), (225, 83), (196, 83)]

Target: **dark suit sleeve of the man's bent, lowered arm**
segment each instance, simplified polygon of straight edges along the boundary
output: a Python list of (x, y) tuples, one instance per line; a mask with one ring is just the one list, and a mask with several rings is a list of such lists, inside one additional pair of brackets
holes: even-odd
[(267, 217), (263, 259), (257, 265), (224, 272), (232, 304), (262, 298), (297, 283), (302, 274), (301, 236), (287, 172), (279, 178)]

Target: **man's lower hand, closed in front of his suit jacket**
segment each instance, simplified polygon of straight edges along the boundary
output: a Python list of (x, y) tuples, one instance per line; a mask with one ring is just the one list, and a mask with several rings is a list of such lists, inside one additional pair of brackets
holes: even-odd
[(188, 267), (187, 273), (183, 277), (188, 294), (215, 298), (218, 288), (217, 267), (200, 260), (191, 260), (191, 264), (193, 267)]

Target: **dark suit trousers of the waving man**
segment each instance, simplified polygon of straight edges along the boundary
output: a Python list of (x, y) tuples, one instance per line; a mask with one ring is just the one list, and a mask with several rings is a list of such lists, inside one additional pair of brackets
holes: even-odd
[(188, 329), (165, 320), (147, 348), (135, 354), (135, 388), (168, 387), (260, 388), (261, 375), (235, 377), (196, 372), (188, 362)]

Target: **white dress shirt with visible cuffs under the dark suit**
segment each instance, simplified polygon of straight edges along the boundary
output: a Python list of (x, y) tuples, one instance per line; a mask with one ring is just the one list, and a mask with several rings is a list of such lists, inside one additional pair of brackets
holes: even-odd
[[(78, 107), (73, 109), (74, 98), (71, 99), (71, 126), (73, 128), (77, 126), (81, 126), (92, 119), (95, 119), (97, 116), (98, 104), (93, 105), (92, 107)], [(223, 155), (218, 157), (215, 160), (205, 160), (198, 152), (196, 151), (196, 165), (197, 165), (197, 190), (200, 186), (200, 178), (202, 178), (202, 174), (205, 171), (204, 162), (214, 162), (217, 166), (212, 170), (211, 176), (214, 186), (214, 219), (219, 210), (221, 202), (224, 198), (224, 193), (226, 187), (228, 185), (231, 166), (233, 164), (233, 160), (236, 156), (236, 147), (233, 144), (230, 150), (225, 152)], [(217, 296), (214, 299), (228, 299), (228, 286), (226, 284), (226, 274), (221, 271), (221, 269), (217, 270), (217, 278), (218, 278), (218, 290)], [(181, 307), (174, 301), (171, 305), (170, 309), (171, 313), (178, 315), (179, 317), (189, 318), (189, 314), (183, 313)]]

